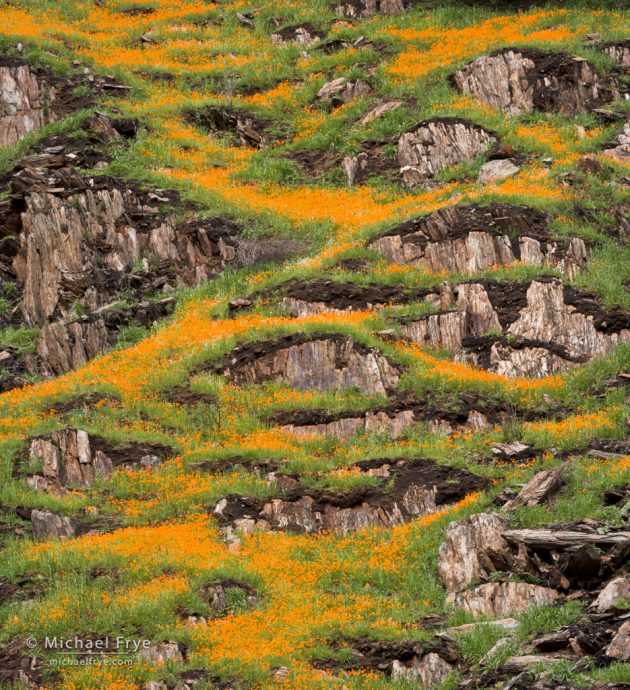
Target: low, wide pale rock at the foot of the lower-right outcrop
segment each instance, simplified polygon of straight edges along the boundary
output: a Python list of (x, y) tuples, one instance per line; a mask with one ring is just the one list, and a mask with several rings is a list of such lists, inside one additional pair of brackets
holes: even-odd
[(553, 589), (524, 582), (488, 582), (463, 592), (452, 592), (446, 603), (473, 616), (524, 613), (536, 606), (551, 606), (559, 595)]

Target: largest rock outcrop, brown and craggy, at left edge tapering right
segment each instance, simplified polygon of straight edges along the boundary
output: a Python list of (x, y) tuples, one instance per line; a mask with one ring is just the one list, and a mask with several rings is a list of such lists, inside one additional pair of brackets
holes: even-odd
[[(0, 263), (20, 288), (22, 324), (41, 329), (31, 373), (67, 372), (107, 351), (125, 325), (152, 325), (178, 287), (295, 251), (244, 238), (230, 219), (196, 219), (176, 192), (40, 162), (53, 167), (18, 170), (0, 202)], [(123, 293), (135, 304), (119, 306)]]

